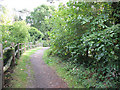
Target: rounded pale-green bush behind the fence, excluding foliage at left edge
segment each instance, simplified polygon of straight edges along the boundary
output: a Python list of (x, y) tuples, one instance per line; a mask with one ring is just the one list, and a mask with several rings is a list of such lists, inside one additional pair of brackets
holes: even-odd
[(15, 43), (24, 43), (28, 41), (29, 32), (28, 26), (24, 21), (17, 21), (13, 24), (13, 27), (10, 30), (10, 36)]

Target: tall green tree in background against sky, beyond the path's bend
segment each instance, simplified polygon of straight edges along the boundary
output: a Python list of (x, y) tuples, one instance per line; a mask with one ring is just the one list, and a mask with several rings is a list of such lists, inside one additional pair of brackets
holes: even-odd
[(37, 28), (44, 34), (44, 39), (48, 39), (47, 31), (50, 31), (49, 25), (45, 22), (46, 18), (50, 18), (51, 12), (54, 11), (52, 6), (41, 5), (26, 17), (26, 22), (32, 27)]

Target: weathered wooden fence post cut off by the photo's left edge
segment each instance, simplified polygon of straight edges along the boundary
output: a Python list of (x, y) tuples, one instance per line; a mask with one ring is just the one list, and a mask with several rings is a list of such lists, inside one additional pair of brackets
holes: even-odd
[(0, 90), (3, 88), (4, 78), (3, 78), (3, 49), (2, 44), (0, 44)]

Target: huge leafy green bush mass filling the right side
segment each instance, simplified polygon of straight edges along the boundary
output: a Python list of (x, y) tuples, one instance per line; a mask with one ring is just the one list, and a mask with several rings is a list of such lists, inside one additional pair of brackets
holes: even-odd
[[(85, 77), (89, 74), (81, 76), (84, 79), (80, 82), (86, 87), (119, 86), (120, 25), (114, 25), (112, 12), (111, 2), (70, 1), (67, 6), (61, 4), (49, 19), (52, 54), (83, 64), (90, 73), (95, 73), (93, 79), (99, 84), (86, 85)], [(89, 79), (92, 81), (92, 77)]]

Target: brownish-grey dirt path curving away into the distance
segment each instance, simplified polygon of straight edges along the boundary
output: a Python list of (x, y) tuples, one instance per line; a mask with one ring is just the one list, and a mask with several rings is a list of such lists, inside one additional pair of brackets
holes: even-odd
[(31, 55), (34, 80), (31, 81), (32, 85), (29, 88), (67, 88), (67, 84), (42, 60), (46, 49), (48, 47), (43, 47)]

